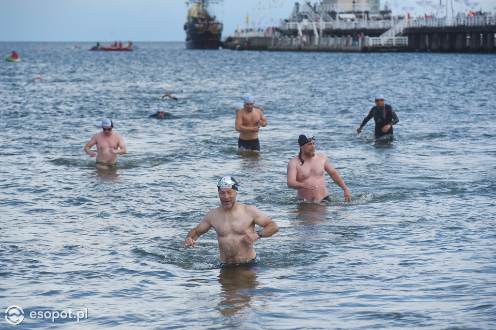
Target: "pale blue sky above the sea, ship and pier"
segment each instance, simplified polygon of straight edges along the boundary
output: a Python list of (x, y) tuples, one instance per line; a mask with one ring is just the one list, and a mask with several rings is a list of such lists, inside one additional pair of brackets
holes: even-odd
[[(463, 2), (447, 1), (457, 11), (469, 8)], [(477, 10), (482, 6), (495, 12), (496, 0), (470, 1), (478, 3)], [(404, 7), (415, 8), (413, 17), (424, 12), (415, 0), (388, 2), (395, 15)], [(246, 27), (247, 13), (250, 27), (277, 26), (279, 19), (289, 17), (294, 4), (294, 0), (225, 0), (212, 7), (224, 23), (225, 38), (238, 23)], [(186, 13), (186, 0), (0, 0), (0, 41), (184, 41)]]

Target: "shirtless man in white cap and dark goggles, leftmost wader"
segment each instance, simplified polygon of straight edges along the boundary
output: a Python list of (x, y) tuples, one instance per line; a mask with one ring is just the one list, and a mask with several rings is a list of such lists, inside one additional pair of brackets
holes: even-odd
[[(113, 132), (114, 123), (109, 118), (102, 120), (102, 131), (93, 135), (91, 140), (84, 147), (84, 151), (95, 157), (97, 165), (115, 165), (117, 155), (126, 153), (124, 140), (121, 134)], [(97, 152), (91, 151), (91, 147), (96, 144)], [(120, 148), (120, 149), (119, 149)]]

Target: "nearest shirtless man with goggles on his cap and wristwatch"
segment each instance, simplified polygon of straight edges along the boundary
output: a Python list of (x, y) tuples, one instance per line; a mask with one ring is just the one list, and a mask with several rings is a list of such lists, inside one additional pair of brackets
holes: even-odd
[[(236, 202), (238, 183), (233, 177), (224, 176), (220, 179), (217, 190), (222, 206), (209, 211), (188, 232), (183, 247), (194, 247), (198, 237), (213, 227), (219, 242), (219, 267), (255, 263), (253, 242), (261, 237), (272, 236), (279, 231), (279, 227), (256, 207)], [(255, 224), (263, 227), (263, 230), (254, 231)]]

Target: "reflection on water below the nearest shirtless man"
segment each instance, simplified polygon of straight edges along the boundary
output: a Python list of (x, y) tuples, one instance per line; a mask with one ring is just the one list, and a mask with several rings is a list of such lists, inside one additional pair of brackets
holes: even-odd
[(250, 306), (253, 290), (257, 287), (256, 273), (250, 268), (222, 268), (219, 273), (222, 300), (216, 309), (224, 316), (233, 316)]

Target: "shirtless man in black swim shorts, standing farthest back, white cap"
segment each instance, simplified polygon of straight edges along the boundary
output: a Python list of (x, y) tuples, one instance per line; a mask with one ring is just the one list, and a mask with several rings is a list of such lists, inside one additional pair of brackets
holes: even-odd
[(260, 141), (258, 141), (258, 130), (260, 126), (267, 126), (267, 119), (262, 110), (253, 108), (255, 98), (248, 95), (245, 98), (245, 106), (236, 111), (236, 130), (240, 132), (238, 148), (244, 148), (254, 152), (260, 152)]

